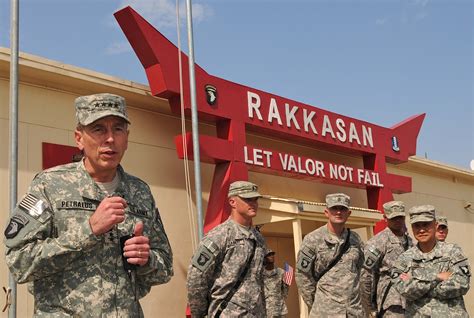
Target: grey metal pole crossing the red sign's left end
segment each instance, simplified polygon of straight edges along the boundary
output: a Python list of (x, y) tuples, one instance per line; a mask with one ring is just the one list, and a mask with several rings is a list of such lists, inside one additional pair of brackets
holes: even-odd
[(196, 191), (196, 207), (198, 213), (199, 239), (204, 236), (203, 214), (202, 214), (202, 190), (201, 190), (201, 155), (199, 152), (199, 128), (196, 101), (196, 78), (194, 74), (194, 40), (193, 40), (193, 18), (191, 0), (186, 0), (186, 20), (188, 25), (188, 48), (189, 48), (189, 91), (191, 94), (191, 123), (193, 133), (194, 153), (194, 184)]

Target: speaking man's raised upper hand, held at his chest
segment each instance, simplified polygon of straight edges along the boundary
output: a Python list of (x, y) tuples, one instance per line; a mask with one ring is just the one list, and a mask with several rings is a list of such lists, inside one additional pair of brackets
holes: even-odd
[(97, 210), (89, 218), (92, 233), (101, 235), (110, 231), (115, 224), (125, 220), (127, 201), (121, 197), (107, 197), (100, 202)]

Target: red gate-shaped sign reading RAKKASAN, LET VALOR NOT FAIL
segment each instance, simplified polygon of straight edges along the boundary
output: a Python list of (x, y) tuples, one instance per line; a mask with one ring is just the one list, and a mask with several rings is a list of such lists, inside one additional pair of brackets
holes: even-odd
[[(188, 58), (132, 8), (115, 17), (132, 45), (155, 96), (167, 98), (173, 112), (180, 113), (180, 95), (190, 110)], [(183, 91), (180, 91), (179, 54), (182, 59)], [(387, 173), (386, 162), (401, 163), (416, 153), (416, 139), (425, 114), (410, 117), (385, 128), (339, 115), (298, 101), (263, 92), (212, 76), (196, 65), (197, 108), (201, 119), (213, 121), (216, 137), (200, 136), (201, 160), (216, 165), (204, 231), (228, 217), (227, 191), (235, 180), (247, 180), (248, 171), (278, 174), (343, 186), (365, 188), (371, 209), (382, 210), (393, 193), (411, 191), (411, 179)], [(249, 145), (246, 132), (277, 136), (296, 144), (361, 156), (364, 167), (350, 167), (298, 154)], [(175, 143), (183, 158), (192, 157), (192, 139), (182, 136)], [(383, 228), (376, 227), (376, 231)]]

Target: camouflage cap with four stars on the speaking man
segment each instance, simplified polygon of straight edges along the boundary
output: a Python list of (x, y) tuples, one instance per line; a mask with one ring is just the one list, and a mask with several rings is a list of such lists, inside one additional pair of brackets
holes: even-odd
[(107, 117), (117, 116), (130, 124), (127, 115), (125, 99), (114, 94), (94, 94), (80, 96), (75, 100), (76, 120), (79, 124), (87, 126), (94, 121)]

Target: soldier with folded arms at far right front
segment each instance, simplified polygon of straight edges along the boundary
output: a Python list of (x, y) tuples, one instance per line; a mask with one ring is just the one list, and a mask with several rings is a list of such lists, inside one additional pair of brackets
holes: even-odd
[(468, 259), (456, 244), (436, 240), (432, 205), (415, 206), (409, 214), (418, 244), (392, 270), (394, 287), (406, 298), (406, 317), (469, 317), (463, 299), (471, 276)]

